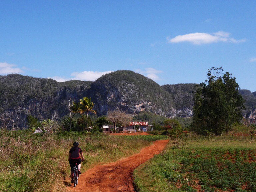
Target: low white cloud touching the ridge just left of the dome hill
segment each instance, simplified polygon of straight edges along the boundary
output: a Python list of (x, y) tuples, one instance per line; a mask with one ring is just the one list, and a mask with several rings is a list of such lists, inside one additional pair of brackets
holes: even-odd
[(65, 77), (59, 77), (59, 76), (54, 76), (54, 77), (48, 77), (51, 79), (54, 79), (58, 82), (64, 82), (64, 81), (70, 81), (70, 80), (81, 80), (81, 81), (95, 81), (102, 75), (105, 75), (107, 73), (111, 73), (112, 71), (104, 71), (104, 72), (98, 72), (98, 71), (83, 71), (83, 72), (74, 72), (71, 73), (71, 78), (65, 78)]

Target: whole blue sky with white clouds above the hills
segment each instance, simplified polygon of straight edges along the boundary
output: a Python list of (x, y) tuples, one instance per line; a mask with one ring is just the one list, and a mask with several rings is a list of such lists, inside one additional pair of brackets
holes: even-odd
[(132, 70), (159, 85), (223, 67), (256, 91), (256, 1), (1, 0), (0, 75), (94, 81)]

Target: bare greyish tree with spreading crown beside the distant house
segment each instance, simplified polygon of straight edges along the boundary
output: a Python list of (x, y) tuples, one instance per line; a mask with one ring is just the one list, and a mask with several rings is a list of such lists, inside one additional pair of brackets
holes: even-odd
[(106, 119), (114, 124), (115, 132), (116, 132), (116, 124), (120, 123), (123, 126), (129, 124), (132, 120), (131, 115), (125, 114), (121, 111), (109, 111)]

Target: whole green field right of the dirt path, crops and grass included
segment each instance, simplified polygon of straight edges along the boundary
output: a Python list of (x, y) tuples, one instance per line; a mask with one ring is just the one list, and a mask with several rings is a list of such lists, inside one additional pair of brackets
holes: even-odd
[[(177, 148), (183, 142), (183, 148)], [(138, 192), (256, 191), (256, 141), (249, 136), (189, 136), (134, 172)]]

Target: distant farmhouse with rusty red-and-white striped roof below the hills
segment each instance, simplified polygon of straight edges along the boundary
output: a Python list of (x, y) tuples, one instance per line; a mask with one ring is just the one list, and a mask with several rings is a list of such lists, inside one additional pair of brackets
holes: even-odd
[(117, 127), (119, 132), (134, 132), (135, 125), (139, 125), (140, 131), (153, 131), (153, 125), (149, 125), (148, 122), (130, 122), (128, 126)]

